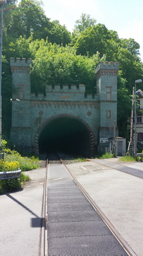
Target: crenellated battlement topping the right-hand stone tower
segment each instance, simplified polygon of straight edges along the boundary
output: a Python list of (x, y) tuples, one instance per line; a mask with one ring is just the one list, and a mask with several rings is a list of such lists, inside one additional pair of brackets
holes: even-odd
[(99, 64), (96, 66), (96, 74), (100, 70), (106, 70), (106, 71), (118, 71), (119, 70), (119, 62), (118, 61), (100, 61)]

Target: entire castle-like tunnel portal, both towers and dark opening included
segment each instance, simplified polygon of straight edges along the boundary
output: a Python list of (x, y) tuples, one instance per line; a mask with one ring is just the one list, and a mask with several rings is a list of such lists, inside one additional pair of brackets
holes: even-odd
[(46, 94), (31, 93), (30, 64), (30, 59), (10, 59), (14, 86), (10, 139), (15, 148), (38, 153), (51, 148), (79, 154), (104, 151), (116, 123), (119, 63), (97, 65), (97, 94), (86, 97), (82, 84), (47, 85)]

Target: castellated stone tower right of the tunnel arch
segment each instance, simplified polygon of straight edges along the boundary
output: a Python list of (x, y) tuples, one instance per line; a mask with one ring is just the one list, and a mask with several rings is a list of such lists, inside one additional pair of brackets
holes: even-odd
[[(97, 94), (100, 97), (99, 147), (108, 146), (117, 122), (118, 62), (100, 62), (96, 67)], [(118, 128), (116, 127), (116, 136)]]

